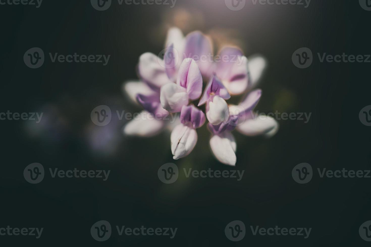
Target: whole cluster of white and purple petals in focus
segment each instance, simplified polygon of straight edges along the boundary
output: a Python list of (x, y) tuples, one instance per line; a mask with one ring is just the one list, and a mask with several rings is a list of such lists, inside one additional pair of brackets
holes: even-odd
[[(124, 134), (153, 136), (171, 125), (165, 116), (180, 113), (180, 122), (170, 136), (176, 160), (190, 154), (197, 142), (196, 129), (207, 119), (214, 156), (231, 166), (236, 164), (236, 141), (231, 131), (236, 129), (247, 136), (274, 135), (278, 130), (275, 119), (255, 118), (253, 114), (262, 90), (251, 89), (262, 74), (265, 60), (259, 56), (248, 60), (236, 47), (223, 47), (218, 62), (195, 59), (209, 54), (213, 54), (213, 46), (207, 36), (194, 31), (184, 37), (177, 28), (168, 31), (163, 59), (152, 53), (142, 54), (138, 65), (140, 81), (125, 83), (124, 90), (144, 108), (141, 114), (164, 119), (131, 120)], [(227, 104), (231, 96), (245, 93), (240, 104)], [(193, 104), (198, 99), (198, 107), (205, 104), (206, 116)]]

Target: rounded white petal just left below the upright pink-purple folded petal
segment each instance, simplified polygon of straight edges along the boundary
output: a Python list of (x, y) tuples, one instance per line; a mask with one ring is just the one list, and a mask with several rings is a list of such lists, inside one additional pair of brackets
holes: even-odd
[(188, 104), (188, 94), (184, 87), (168, 83), (161, 87), (160, 102), (162, 108), (169, 112), (180, 112)]

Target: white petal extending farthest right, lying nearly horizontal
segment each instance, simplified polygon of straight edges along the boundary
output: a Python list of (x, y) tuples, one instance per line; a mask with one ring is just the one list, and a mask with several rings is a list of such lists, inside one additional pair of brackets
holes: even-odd
[(246, 136), (265, 135), (271, 137), (278, 131), (279, 124), (273, 117), (259, 115), (244, 121), (237, 130)]

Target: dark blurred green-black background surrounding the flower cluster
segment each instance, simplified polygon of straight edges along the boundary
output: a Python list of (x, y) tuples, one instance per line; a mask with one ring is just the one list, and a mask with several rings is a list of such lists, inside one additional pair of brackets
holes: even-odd
[[(105, 11), (90, 1), (43, 1), (39, 8), (0, 5), (0, 112), (43, 112), (33, 121), (2, 120), (0, 227), (43, 227), (42, 237), (0, 236), (1, 246), (366, 246), (359, 226), (371, 220), (371, 178), (319, 178), (298, 184), (294, 166), (313, 170), (370, 170), (370, 127), (358, 118), (370, 105), (370, 63), (320, 63), (316, 53), (371, 54), (371, 12), (358, 1), (316, 1), (298, 5), (254, 5), (239, 11), (224, 0), (178, 0), (169, 5), (119, 5)], [(236, 44), (246, 56), (262, 54), (268, 67), (260, 81), (256, 110), (312, 113), (308, 123), (279, 121), (270, 138), (236, 131), (236, 168), (211, 154), (206, 125), (186, 158), (174, 161), (170, 133), (125, 137), (126, 120), (112, 117), (99, 127), (90, 114), (99, 105), (139, 112), (123, 94), (124, 81), (137, 79), (144, 52), (160, 53), (169, 27), (184, 34), (201, 30), (216, 45)], [(39, 69), (24, 64), (24, 53), (40, 47)], [(298, 69), (293, 52), (308, 47), (313, 64)], [(111, 54), (109, 63), (52, 63), (48, 53)], [(51, 178), (30, 184), (22, 176), (31, 163), (46, 170), (111, 170), (109, 179)], [(180, 170), (245, 170), (243, 179), (185, 178), (164, 184), (158, 168), (173, 162)], [(177, 227), (176, 237), (118, 236), (103, 243), (90, 235), (98, 220), (111, 226)], [(224, 227), (241, 220), (242, 241)], [(252, 236), (249, 226), (312, 227), (309, 238)], [(115, 231), (115, 229), (114, 229)]]

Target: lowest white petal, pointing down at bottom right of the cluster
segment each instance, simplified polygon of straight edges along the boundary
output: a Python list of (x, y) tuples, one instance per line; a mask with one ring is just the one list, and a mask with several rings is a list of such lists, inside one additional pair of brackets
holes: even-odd
[(214, 156), (223, 164), (236, 166), (236, 141), (230, 132), (214, 135), (210, 139), (210, 147)]

